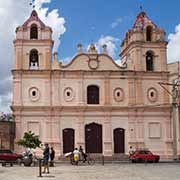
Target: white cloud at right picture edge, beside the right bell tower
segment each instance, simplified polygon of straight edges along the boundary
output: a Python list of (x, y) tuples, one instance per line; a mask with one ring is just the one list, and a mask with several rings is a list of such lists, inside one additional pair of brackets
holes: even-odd
[(175, 33), (168, 36), (167, 60), (174, 62), (180, 60), (180, 24), (175, 27)]

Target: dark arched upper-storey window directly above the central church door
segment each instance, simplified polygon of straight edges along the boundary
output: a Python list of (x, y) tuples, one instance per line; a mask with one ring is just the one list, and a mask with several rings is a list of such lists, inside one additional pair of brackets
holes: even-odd
[(99, 104), (99, 87), (87, 87), (87, 104)]

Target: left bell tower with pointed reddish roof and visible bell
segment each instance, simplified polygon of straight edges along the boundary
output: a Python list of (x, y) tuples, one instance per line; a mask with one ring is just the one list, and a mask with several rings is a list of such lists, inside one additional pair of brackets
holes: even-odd
[(33, 10), (29, 19), (16, 28), (13, 69), (50, 70), (52, 47), (52, 29)]

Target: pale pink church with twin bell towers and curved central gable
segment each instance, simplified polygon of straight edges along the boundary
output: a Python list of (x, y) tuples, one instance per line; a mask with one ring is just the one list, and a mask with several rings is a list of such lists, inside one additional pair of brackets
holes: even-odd
[[(52, 58), (52, 33), (35, 10), (16, 29), (16, 139), (31, 130), (60, 155), (80, 145), (105, 156), (128, 154), (133, 146), (171, 158), (172, 98), (159, 82), (177, 78), (178, 63), (167, 64), (165, 31), (139, 13), (122, 41), (119, 65), (106, 45), (98, 52), (93, 44), (87, 52), (79, 44), (63, 64), (57, 53)], [(179, 118), (176, 127), (180, 152)]]

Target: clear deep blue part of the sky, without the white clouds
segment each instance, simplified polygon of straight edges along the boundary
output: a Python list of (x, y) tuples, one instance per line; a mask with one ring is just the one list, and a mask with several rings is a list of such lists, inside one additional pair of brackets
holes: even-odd
[[(50, 9), (58, 8), (60, 16), (66, 21), (66, 32), (61, 37), (58, 49), (60, 59), (72, 57), (79, 42), (86, 46), (96, 42), (102, 35), (122, 40), (140, 12), (140, 6), (167, 34), (174, 32), (175, 26), (180, 22), (178, 0), (174, 0), (172, 4), (163, 0), (53, 0)], [(119, 18), (122, 21), (112, 28), (112, 23)], [(117, 57), (120, 42), (116, 44)]]

